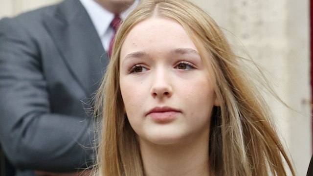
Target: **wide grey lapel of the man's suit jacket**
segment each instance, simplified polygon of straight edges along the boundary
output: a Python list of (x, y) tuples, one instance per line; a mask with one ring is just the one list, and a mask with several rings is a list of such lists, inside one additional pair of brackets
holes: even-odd
[(90, 96), (109, 59), (87, 11), (79, 0), (65, 0), (45, 26), (68, 69)]

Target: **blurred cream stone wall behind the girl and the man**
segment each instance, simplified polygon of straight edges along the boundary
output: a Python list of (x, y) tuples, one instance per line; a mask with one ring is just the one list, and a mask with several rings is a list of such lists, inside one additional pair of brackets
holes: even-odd
[[(59, 1), (0, 0), (0, 18)], [(218, 22), (234, 50), (242, 53), (240, 43), (245, 46), (291, 107), (267, 98), (297, 175), (305, 176), (312, 155), (310, 0), (192, 1)]]

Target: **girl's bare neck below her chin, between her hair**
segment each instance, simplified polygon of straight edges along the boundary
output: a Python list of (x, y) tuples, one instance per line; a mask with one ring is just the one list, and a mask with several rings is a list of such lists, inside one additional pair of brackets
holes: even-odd
[(146, 176), (208, 176), (208, 136), (198, 141), (156, 145), (140, 140)]

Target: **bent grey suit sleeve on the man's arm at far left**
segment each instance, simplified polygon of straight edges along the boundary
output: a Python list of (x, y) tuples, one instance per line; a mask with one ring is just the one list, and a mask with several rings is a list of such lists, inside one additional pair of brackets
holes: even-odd
[(18, 21), (0, 21), (1, 146), (19, 169), (76, 171), (94, 161), (92, 118), (51, 113), (40, 54)]

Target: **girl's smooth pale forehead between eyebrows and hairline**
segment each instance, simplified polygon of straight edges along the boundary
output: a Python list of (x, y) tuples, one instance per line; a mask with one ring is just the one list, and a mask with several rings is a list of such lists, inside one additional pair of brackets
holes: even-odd
[(192, 48), (195, 44), (185, 29), (172, 19), (152, 17), (137, 23), (127, 35), (121, 48), (121, 56), (130, 50), (164, 51), (176, 48)]

